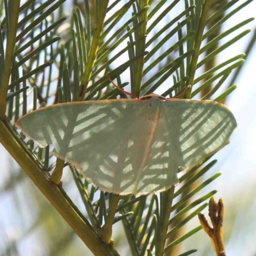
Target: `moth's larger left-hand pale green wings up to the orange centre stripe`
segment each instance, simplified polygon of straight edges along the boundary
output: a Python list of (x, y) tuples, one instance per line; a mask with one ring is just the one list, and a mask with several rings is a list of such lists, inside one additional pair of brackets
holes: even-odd
[(82, 170), (95, 186), (119, 194), (149, 193), (163, 189), (138, 188), (140, 170), (150, 166), (146, 149), (156, 109), (138, 100), (72, 102), (33, 111), (17, 125), (38, 145), (53, 144), (52, 153)]

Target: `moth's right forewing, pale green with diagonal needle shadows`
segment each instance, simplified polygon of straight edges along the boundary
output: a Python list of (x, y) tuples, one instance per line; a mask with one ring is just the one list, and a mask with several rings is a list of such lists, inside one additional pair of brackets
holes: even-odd
[[(165, 102), (164, 111), (168, 131), (179, 127), (179, 131), (175, 131), (179, 141), (173, 150), (179, 148), (182, 156), (180, 169), (184, 171), (227, 145), (237, 126), (227, 107), (210, 100), (170, 99)], [(170, 132), (170, 136), (172, 134)]]

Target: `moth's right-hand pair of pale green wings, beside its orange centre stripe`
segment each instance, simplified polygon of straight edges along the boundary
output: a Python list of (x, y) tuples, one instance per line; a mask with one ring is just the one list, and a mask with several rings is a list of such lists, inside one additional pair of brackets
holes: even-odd
[(177, 183), (179, 171), (188, 171), (227, 145), (236, 128), (234, 115), (217, 102), (180, 99), (164, 102), (152, 98), (144, 104), (146, 109), (157, 106), (159, 116), (147, 164), (134, 188), (137, 193), (159, 191)]

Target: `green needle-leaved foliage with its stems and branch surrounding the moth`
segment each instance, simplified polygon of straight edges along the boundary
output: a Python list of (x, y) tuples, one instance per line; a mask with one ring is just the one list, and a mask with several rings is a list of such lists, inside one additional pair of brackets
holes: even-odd
[[(156, 90), (172, 97), (191, 85), (182, 97), (201, 95), (223, 102), (236, 88), (245, 54), (218, 65), (215, 60), (249, 33), (235, 32), (253, 19), (237, 20), (225, 29), (223, 24), (252, 0), (76, 2), (67, 19), (65, 0), (29, 0), (22, 5), (19, 0), (0, 1), (0, 142), (95, 255), (118, 255), (111, 240), (115, 223), (122, 223), (131, 255), (191, 255), (196, 250), (179, 252), (179, 246), (201, 230), (199, 222), (192, 230), (185, 232), (184, 227), (216, 193), (199, 195), (220, 176), (204, 179), (216, 160), (206, 159), (184, 173), (178, 186), (159, 195), (110, 195), (94, 188), (68, 163), (56, 162), (50, 147), (38, 148), (13, 124), (51, 104), (127, 97), (108, 77), (138, 97)], [(68, 166), (64, 172), (70, 169), (84, 207), (76, 206), (67, 189), (49, 181), (52, 170), (62, 171), (63, 166)], [(68, 230), (64, 243), (72, 237)], [(9, 244), (3, 255), (15, 248)]]

